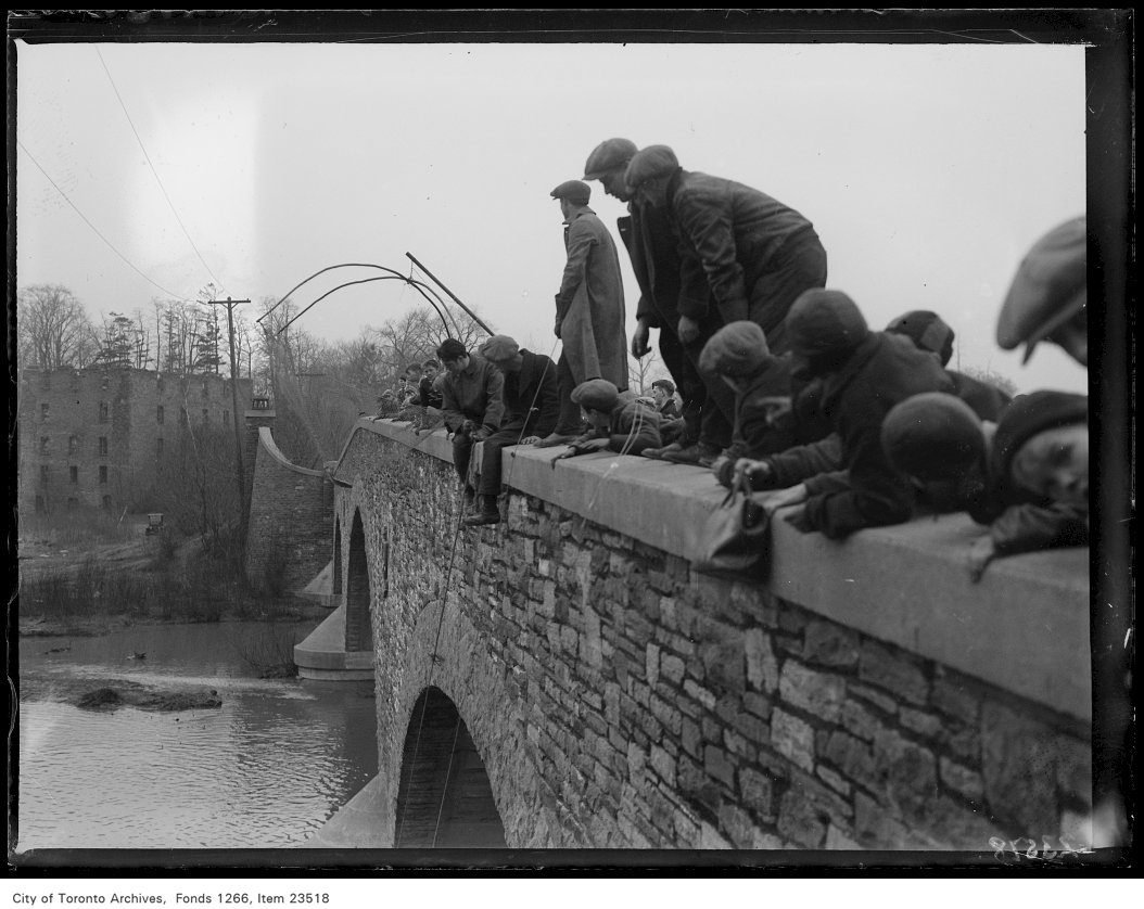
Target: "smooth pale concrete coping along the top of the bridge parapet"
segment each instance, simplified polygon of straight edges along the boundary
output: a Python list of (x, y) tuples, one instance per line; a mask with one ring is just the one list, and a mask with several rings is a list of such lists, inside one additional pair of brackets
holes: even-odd
[[(443, 430), (418, 436), (405, 424), (363, 420), (347, 449), (359, 430), (452, 460)], [(607, 452), (554, 468), (561, 450), (505, 449), (505, 485), (696, 560), (704, 525), (726, 494), (710, 471)], [(980, 533), (968, 515), (919, 518), (844, 541), (776, 520), (766, 587), (825, 619), (1089, 721), (1089, 550), (998, 559), (974, 583), (966, 557)], [(704, 583), (706, 575), (696, 577)]]

